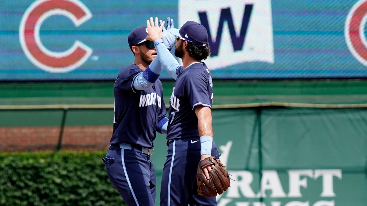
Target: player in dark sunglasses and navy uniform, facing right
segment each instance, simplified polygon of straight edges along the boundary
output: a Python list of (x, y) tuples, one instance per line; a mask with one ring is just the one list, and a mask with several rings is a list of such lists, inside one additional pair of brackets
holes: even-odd
[(129, 34), (134, 63), (121, 69), (113, 93), (115, 115), (110, 148), (106, 158), (108, 177), (128, 206), (154, 206), (155, 169), (150, 159), (156, 131), (167, 132), (168, 119), (158, 79), (161, 64), (155, 45), (145, 37), (162, 36), (162, 27), (138, 27)]

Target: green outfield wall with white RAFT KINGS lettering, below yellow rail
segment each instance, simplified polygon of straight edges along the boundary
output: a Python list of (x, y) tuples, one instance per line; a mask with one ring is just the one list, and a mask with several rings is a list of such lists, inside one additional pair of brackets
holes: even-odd
[[(234, 180), (218, 206), (366, 205), (367, 110), (216, 109), (212, 117), (214, 141)], [(158, 135), (158, 181), (166, 154)]]

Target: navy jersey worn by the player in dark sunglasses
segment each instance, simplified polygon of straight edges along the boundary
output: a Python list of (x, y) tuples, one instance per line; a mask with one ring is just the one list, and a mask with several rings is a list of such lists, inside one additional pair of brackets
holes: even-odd
[(110, 144), (127, 143), (153, 147), (157, 122), (166, 117), (162, 83), (158, 79), (148, 90), (134, 89), (134, 79), (143, 72), (137, 65), (121, 69), (116, 78), (115, 118)]

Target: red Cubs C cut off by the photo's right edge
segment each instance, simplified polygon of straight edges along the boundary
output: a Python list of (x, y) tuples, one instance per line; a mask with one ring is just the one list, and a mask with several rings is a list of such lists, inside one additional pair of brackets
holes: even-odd
[(344, 36), (349, 51), (367, 66), (367, 41), (364, 26), (367, 22), (367, 0), (358, 1), (349, 11), (345, 21)]

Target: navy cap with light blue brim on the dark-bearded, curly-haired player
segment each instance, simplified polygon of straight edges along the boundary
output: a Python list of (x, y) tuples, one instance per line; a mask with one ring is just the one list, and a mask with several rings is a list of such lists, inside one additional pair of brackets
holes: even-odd
[(172, 34), (182, 37), (199, 47), (205, 47), (208, 44), (208, 32), (200, 23), (187, 21), (181, 29), (172, 28), (169, 30)]

